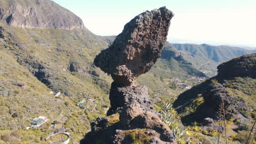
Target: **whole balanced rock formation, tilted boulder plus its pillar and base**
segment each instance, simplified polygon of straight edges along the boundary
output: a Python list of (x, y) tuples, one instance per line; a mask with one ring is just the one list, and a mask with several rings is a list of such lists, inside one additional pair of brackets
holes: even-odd
[[(128, 22), (108, 49), (94, 64), (113, 78), (108, 117), (91, 124), (82, 143), (131, 143), (138, 135), (143, 143), (176, 143), (176, 136), (161, 121), (146, 86), (135, 80), (147, 73), (160, 57), (173, 13), (165, 7), (146, 11)], [(119, 113), (118, 116), (116, 116)], [(119, 122), (112, 123), (112, 117)]]

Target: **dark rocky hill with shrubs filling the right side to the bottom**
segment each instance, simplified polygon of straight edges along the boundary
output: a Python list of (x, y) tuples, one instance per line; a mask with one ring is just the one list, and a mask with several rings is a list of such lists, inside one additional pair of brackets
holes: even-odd
[(216, 136), (225, 116), (229, 140), (244, 143), (255, 119), (255, 70), (255, 53), (222, 63), (217, 76), (180, 94), (173, 108), (192, 131), (210, 136)]

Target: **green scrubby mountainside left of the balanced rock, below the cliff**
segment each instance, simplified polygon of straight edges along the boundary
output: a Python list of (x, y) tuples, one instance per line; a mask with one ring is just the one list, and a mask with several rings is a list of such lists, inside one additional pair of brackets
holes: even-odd
[[(65, 131), (71, 132), (73, 142), (82, 139), (79, 131), (86, 131), (89, 121), (104, 115), (109, 105), (110, 77), (92, 64), (96, 53), (109, 45), (107, 40), (86, 30), (22, 29), (4, 23), (0, 29), (1, 106), (4, 112), (10, 110), (1, 114), (1, 135), (8, 137), (11, 129), (18, 129), (24, 137), (17, 140), (26, 141), (30, 134), (38, 137), (42, 131), (46, 137), (56, 130), (49, 128), (51, 123), (68, 117)], [(55, 98), (50, 91), (61, 95)], [(76, 104), (84, 99), (82, 110)], [(42, 131), (23, 131), (36, 116), (47, 116), (48, 124)]]

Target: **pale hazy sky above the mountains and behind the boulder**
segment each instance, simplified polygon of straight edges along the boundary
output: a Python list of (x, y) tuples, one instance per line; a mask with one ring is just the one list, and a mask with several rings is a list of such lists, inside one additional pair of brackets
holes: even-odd
[(170, 43), (256, 47), (256, 0), (54, 0), (97, 35), (117, 35), (145, 10), (166, 6), (175, 16)]

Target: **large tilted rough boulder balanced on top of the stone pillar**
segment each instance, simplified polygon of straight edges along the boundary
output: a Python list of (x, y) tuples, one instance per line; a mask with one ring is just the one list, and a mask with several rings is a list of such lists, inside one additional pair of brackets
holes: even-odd
[(112, 46), (94, 60), (116, 83), (131, 85), (161, 55), (173, 13), (165, 7), (146, 11), (124, 26)]

